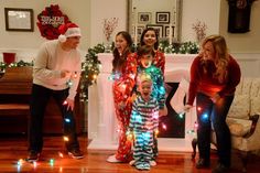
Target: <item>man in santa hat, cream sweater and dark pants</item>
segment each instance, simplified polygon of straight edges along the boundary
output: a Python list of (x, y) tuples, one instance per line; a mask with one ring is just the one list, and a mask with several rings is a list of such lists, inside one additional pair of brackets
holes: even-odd
[(54, 98), (63, 116), (64, 140), (68, 154), (82, 159), (73, 113), (82, 72), (77, 50), (80, 30), (75, 23), (62, 24), (57, 40), (42, 44), (34, 60), (33, 86), (30, 104), (30, 132), (28, 161), (37, 161), (43, 148), (43, 118), (46, 105)]

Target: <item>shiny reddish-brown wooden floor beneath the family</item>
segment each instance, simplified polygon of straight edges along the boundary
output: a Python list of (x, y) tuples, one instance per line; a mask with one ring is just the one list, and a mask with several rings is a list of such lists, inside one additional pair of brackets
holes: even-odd
[[(40, 173), (134, 173), (140, 172), (127, 163), (108, 163), (106, 159), (112, 151), (88, 151), (88, 140), (86, 136), (79, 137), (82, 150), (85, 152), (83, 160), (71, 159), (64, 153), (64, 142), (62, 137), (45, 137), (44, 149), (41, 161), (36, 164), (19, 162), (26, 158), (26, 137), (25, 136), (0, 136), (0, 172), (40, 172)], [(59, 156), (64, 153), (64, 158)], [(241, 162), (234, 154), (232, 167), (230, 173), (241, 172)], [(51, 163), (53, 160), (53, 163)], [(18, 165), (22, 163), (21, 165)], [(212, 154), (212, 167), (216, 164), (217, 156)], [(257, 173), (260, 170), (260, 159), (251, 156), (248, 164), (248, 173)], [(197, 170), (191, 153), (164, 152), (160, 153), (158, 165), (151, 167), (151, 173), (210, 173), (210, 169)]]

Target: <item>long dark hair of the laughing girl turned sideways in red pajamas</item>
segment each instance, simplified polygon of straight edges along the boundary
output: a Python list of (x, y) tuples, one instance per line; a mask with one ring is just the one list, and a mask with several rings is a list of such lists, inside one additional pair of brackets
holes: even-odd
[(112, 72), (115, 72), (116, 69), (119, 69), (120, 67), (122, 67), (122, 65), (126, 63), (127, 61), (127, 56), (130, 53), (130, 47), (132, 45), (132, 37), (131, 35), (127, 32), (127, 31), (120, 31), (117, 33), (116, 37), (118, 35), (122, 35), (122, 37), (127, 41), (128, 46), (127, 48), (123, 51), (123, 53), (120, 55), (120, 53), (118, 52), (118, 48), (115, 47), (112, 55), (113, 55), (113, 60), (112, 60)]

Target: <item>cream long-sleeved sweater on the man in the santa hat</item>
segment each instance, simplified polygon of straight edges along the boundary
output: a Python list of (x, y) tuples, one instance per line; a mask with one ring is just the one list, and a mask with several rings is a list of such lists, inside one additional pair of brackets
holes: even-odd
[[(71, 77), (61, 78), (61, 71), (69, 71)], [(58, 40), (42, 44), (34, 60), (33, 84), (53, 90), (68, 88), (72, 82), (68, 98), (74, 99), (80, 78), (80, 53), (78, 50), (64, 51)], [(76, 75), (75, 75), (76, 74)]]

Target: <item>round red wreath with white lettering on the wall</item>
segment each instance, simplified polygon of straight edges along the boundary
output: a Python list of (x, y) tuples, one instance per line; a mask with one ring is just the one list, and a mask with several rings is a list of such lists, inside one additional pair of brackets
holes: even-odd
[(47, 40), (57, 39), (59, 35), (58, 26), (68, 22), (68, 17), (62, 13), (58, 4), (51, 4), (37, 14), (37, 28), (41, 35)]

